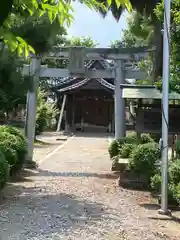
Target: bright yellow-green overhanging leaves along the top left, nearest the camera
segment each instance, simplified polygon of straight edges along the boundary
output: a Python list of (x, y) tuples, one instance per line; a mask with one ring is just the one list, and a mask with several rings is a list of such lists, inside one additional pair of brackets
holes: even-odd
[[(102, 9), (106, 11), (106, 5), (110, 6), (112, 0), (108, 0), (107, 4), (99, 3), (96, 0), (82, 0), (88, 8), (92, 10)], [(117, 6), (125, 6), (129, 10), (131, 5), (129, 0), (116, 0)], [(11, 51), (18, 50), (19, 54), (28, 56), (29, 52), (34, 53), (34, 49), (26, 43), (26, 41), (15, 35), (11, 29), (14, 22), (23, 21), (29, 16), (37, 18), (47, 14), (49, 21), (52, 23), (58, 18), (59, 24), (68, 27), (73, 21), (73, 8), (71, 1), (67, 0), (6, 0), (2, 1), (0, 8), (0, 38), (8, 45)]]

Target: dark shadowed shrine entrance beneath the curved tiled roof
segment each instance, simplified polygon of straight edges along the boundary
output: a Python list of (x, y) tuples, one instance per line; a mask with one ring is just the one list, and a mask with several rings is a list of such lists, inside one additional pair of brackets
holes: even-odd
[(113, 94), (105, 90), (67, 95), (66, 121), (74, 131), (112, 131)]

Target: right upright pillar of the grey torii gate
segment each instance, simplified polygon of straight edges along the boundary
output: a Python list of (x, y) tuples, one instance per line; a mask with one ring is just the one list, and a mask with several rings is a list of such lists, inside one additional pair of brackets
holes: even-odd
[(122, 89), (120, 88), (120, 84), (123, 84), (125, 81), (123, 65), (122, 60), (116, 60), (114, 96), (115, 139), (125, 136), (125, 101), (122, 98)]

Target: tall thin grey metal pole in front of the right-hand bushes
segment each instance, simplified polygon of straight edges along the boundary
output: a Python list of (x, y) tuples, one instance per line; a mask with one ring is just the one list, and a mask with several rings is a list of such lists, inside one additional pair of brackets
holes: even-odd
[(162, 188), (159, 213), (168, 214), (168, 122), (169, 122), (169, 29), (171, 1), (164, 0), (163, 90), (162, 90)]

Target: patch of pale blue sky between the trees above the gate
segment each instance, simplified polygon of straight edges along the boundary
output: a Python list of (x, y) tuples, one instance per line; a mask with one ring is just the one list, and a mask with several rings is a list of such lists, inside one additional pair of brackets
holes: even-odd
[(74, 2), (73, 7), (75, 20), (68, 30), (70, 37), (90, 36), (99, 43), (98, 47), (108, 47), (111, 41), (120, 40), (122, 29), (127, 28), (127, 12), (124, 12), (117, 22), (111, 13), (103, 18), (99, 13), (81, 3)]

